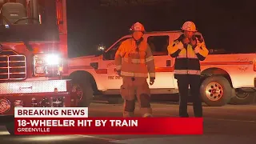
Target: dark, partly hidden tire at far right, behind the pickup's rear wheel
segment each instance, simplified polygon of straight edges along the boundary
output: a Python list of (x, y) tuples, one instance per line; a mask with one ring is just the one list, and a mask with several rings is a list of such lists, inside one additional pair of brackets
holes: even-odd
[(230, 104), (233, 105), (246, 105), (250, 104), (254, 100), (256, 93), (236, 91), (234, 98), (230, 99)]

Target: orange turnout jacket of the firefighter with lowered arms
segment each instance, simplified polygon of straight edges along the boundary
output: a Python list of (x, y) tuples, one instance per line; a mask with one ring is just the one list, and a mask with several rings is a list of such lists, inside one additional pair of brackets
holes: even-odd
[(155, 78), (154, 57), (146, 41), (138, 45), (133, 38), (122, 42), (115, 54), (116, 70), (122, 76)]

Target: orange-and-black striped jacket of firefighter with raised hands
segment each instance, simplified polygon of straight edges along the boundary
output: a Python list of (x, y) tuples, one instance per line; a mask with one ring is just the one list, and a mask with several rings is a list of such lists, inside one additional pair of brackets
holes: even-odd
[[(196, 37), (197, 38), (197, 37)], [(200, 62), (205, 60), (209, 53), (205, 42), (202, 39), (198, 40), (197, 46), (194, 48), (189, 44), (183, 46), (182, 42), (175, 40), (168, 46), (168, 53), (171, 57), (176, 58), (174, 64), (174, 76), (178, 74), (201, 74)]]

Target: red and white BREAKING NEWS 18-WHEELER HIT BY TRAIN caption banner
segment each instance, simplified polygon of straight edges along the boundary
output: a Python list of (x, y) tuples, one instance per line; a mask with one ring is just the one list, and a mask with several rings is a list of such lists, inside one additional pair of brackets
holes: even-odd
[(15, 107), (15, 134), (202, 134), (202, 118), (89, 118), (87, 107)]

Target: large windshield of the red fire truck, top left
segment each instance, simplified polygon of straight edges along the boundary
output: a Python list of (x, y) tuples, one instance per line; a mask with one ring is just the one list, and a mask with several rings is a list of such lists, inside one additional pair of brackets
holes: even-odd
[(0, 42), (58, 40), (54, 0), (0, 0)]

